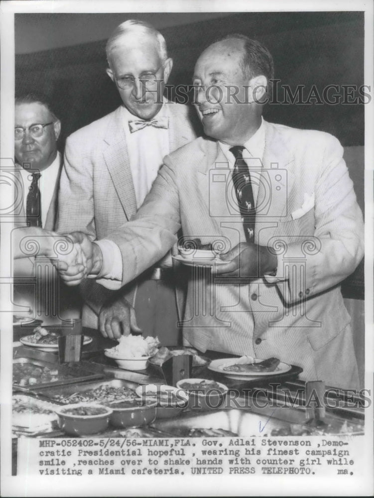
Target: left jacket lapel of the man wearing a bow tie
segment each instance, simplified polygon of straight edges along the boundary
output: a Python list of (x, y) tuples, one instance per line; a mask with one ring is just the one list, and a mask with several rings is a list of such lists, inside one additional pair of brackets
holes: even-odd
[(104, 150), (104, 159), (125, 215), (129, 219), (136, 213), (136, 198), (127, 154), (121, 107), (114, 112), (104, 141), (108, 144)]

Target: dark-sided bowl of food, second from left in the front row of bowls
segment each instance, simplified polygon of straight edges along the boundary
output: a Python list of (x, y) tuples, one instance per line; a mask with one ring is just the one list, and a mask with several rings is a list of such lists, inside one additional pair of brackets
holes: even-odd
[(148, 425), (156, 418), (156, 403), (154, 398), (136, 398), (111, 403), (111, 425), (121, 428)]

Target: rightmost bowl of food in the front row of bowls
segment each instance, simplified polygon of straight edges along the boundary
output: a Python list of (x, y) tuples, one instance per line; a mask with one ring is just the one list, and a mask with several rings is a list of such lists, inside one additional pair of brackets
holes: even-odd
[(188, 407), (200, 410), (222, 408), (229, 390), (221, 382), (204, 378), (184, 378), (176, 386), (188, 393)]

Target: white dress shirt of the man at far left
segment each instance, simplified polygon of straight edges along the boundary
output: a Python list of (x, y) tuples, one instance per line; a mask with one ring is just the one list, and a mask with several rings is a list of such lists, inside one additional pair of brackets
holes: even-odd
[[(40, 171), (38, 186), (40, 190), (41, 224), (43, 228), (47, 220), (48, 210), (51, 205), (53, 193), (56, 187), (56, 182), (60, 169), (60, 162), (61, 162), (60, 152), (57, 152), (57, 155), (52, 164), (48, 166), (48, 168)], [(20, 167), (19, 169), (23, 185), (23, 207), (26, 213), (26, 200), (29, 192), (29, 187), (32, 182), (32, 176), (27, 169), (24, 169), (22, 167)]]

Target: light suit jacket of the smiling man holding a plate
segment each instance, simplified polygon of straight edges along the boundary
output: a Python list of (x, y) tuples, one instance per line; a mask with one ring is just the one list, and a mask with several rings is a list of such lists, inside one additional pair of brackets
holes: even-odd
[[(363, 257), (363, 218), (343, 148), (328, 133), (265, 122), (262, 164), (257, 176), (251, 170), (254, 240), (277, 253), (276, 277), (227, 283), (191, 270), (184, 340), (201, 351), (275, 356), (301, 366), (301, 378), (357, 387), (339, 283)], [(180, 228), (185, 237), (221, 241), (225, 251), (245, 241), (231, 182), (214, 140), (167, 156), (134, 220), (108, 237), (122, 251), (122, 284), (157, 261)]]

